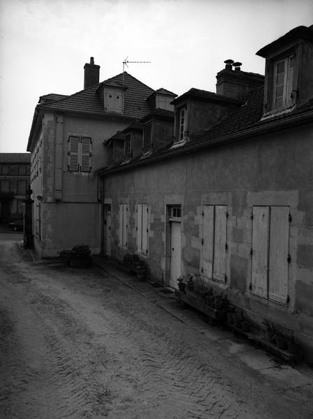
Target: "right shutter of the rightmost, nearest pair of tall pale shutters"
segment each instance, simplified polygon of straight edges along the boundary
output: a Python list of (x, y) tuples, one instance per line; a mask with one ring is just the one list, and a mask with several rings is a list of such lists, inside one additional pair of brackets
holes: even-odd
[(289, 207), (270, 209), (268, 297), (286, 304), (288, 295)]

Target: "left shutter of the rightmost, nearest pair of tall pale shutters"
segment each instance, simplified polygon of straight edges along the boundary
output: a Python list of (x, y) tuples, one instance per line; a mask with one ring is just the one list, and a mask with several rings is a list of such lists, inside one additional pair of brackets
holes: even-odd
[(253, 207), (252, 220), (252, 294), (268, 297), (269, 207)]

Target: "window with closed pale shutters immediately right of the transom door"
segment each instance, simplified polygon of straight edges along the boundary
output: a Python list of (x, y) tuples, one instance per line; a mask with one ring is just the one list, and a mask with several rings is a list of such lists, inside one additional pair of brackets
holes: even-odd
[(225, 282), (227, 252), (226, 205), (203, 206), (201, 272), (204, 277)]

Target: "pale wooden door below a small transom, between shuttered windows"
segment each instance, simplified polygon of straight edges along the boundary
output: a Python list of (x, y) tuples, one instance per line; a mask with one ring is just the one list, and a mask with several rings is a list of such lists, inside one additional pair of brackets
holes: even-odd
[(170, 221), (170, 286), (178, 288), (177, 278), (182, 273), (182, 243), (180, 222)]

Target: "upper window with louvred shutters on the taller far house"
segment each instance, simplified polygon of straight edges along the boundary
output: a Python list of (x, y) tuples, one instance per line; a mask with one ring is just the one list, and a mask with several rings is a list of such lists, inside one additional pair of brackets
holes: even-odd
[(92, 139), (87, 137), (68, 138), (68, 170), (90, 172), (92, 170)]

